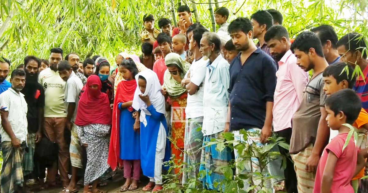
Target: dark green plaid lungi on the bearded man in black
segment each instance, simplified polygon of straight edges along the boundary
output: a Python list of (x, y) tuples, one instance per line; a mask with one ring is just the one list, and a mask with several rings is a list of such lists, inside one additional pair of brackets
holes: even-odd
[(35, 143), (36, 140), (36, 133), (28, 133), (27, 134), (27, 146), (28, 146), (28, 152), (24, 153), (24, 159), (23, 159), (23, 175), (27, 176), (29, 174), (32, 174), (33, 172), (33, 156), (35, 154)]

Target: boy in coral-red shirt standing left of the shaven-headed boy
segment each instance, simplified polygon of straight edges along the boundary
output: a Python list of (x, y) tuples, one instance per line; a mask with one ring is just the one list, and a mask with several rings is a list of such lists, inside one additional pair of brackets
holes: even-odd
[(157, 36), (157, 42), (159, 43), (159, 48), (162, 51), (163, 56), (153, 64), (153, 72), (156, 72), (160, 84), (163, 85), (163, 75), (167, 69), (165, 57), (167, 54), (171, 53), (171, 37), (166, 33), (160, 33)]

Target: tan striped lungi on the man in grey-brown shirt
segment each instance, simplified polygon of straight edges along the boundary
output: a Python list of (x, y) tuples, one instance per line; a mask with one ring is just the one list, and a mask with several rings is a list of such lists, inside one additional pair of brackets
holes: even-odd
[(305, 170), (305, 164), (307, 159), (311, 156), (313, 150), (313, 144), (309, 144), (307, 148), (300, 151), (297, 154), (291, 154), (291, 158), (294, 161), (294, 169), (297, 174), (298, 180), (298, 192), (300, 193), (312, 193), (314, 187), (315, 173)]

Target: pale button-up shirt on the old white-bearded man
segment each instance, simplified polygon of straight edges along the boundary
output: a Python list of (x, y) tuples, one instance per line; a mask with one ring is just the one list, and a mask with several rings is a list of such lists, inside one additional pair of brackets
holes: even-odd
[(210, 64), (208, 62), (203, 94), (204, 135), (212, 135), (224, 130), (227, 105), (229, 103), (230, 73), (229, 63), (219, 54)]

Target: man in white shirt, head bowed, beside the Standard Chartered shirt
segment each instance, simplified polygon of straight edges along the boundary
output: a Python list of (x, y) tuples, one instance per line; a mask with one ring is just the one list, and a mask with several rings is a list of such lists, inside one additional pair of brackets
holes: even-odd
[(75, 75), (72, 66), (67, 60), (62, 60), (57, 65), (57, 71), (61, 79), (67, 82), (65, 86), (64, 105), (67, 110), (66, 127), (71, 131), (70, 142), (70, 161), (72, 165), (71, 180), (69, 185), (63, 192), (74, 192), (77, 184), (78, 168), (83, 168), (82, 163), (82, 146), (78, 137), (77, 127), (75, 126), (75, 118), (77, 117), (77, 108), (79, 101), (79, 93), (83, 88), (81, 79)]

